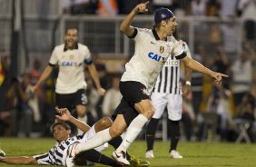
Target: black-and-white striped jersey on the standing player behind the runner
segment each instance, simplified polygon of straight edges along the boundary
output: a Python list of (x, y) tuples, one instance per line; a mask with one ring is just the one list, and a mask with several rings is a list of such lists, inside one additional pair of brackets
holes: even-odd
[[(187, 56), (191, 56), (188, 44), (179, 41)], [(182, 94), (182, 85), (180, 81), (181, 61), (176, 59), (174, 55), (169, 56), (166, 63), (162, 67), (161, 73), (158, 75), (153, 88), (154, 93), (174, 93)]]

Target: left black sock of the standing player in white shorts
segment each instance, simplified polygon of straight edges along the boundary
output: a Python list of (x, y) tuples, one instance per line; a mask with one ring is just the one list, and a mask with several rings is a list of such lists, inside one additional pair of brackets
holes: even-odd
[(146, 128), (147, 151), (153, 150), (154, 135), (156, 132), (158, 122), (159, 122), (159, 119), (152, 118), (150, 122), (147, 123), (147, 128)]

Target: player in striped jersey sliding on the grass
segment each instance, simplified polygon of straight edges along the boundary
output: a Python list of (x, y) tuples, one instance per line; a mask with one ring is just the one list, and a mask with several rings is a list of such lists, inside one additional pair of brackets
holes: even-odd
[[(54, 133), (54, 139), (56, 140), (56, 145), (49, 151), (44, 154), (34, 155), (34, 156), (19, 156), (19, 157), (4, 157), (5, 153), (1, 153), (0, 162), (7, 164), (46, 164), (46, 165), (65, 165), (65, 159), (70, 152), (68, 146), (72, 145), (75, 142), (86, 142), (92, 138), (95, 133), (102, 131), (105, 128), (111, 126), (112, 121), (108, 117), (104, 117), (93, 125), (91, 128), (89, 125), (78, 121), (74, 118), (67, 109), (58, 109), (56, 112), (59, 115), (56, 115), (56, 118), (60, 122), (54, 123), (52, 126), (52, 131)], [(70, 126), (64, 121), (74, 123), (75, 126), (80, 128), (84, 134), (77, 135), (74, 137), (69, 137), (71, 130)], [(113, 145), (114, 148), (117, 148), (122, 142), (122, 138), (118, 137), (110, 141), (109, 143)], [(76, 165), (86, 165), (87, 161), (98, 162), (110, 166), (122, 166), (118, 162), (115, 162), (113, 159), (103, 155), (101, 152), (105, 149), (103, 145), (88, 150), (85, 152), (80, 152), (74, 157), (74, 164)], [(134, 159), (130, 162), (133, 163), (132, 166), (149, 166), (149, 162)]]

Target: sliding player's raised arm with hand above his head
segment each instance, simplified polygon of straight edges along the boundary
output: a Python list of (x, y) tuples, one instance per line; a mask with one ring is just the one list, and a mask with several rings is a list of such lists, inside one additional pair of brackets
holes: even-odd
[(56, 119), (73, 123), (76, 127), (78, 127), (84, 133), (87, 133), (90, 130), (91, 127), (88, 124), (83, 123), (83, 122), (77, 120), (76, 118), (74, 118), (74, 116), (71, 115), (71, 113), (68, 111), (67, 108), (59, 109), (59, 108), (55, 107), (55, 111), (56, 111), (56, 113), (59, 113), (59, 115), (55, 115)]

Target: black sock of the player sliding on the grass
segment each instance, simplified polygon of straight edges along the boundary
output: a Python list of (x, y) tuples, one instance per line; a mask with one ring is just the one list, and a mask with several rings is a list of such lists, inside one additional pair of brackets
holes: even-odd
[(74, 162), (76, 165), (85, 165), (84, 160), (88, 160), (90, 162), (102, 163), (104, 165), (120, 167), (118, 162), (115, 162), (112, 158), (103, 155), (101, 152), (97, 152), (96, 150), (88, 150), (85, 152), (80, 152), (75, 156)]

